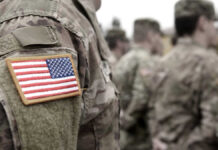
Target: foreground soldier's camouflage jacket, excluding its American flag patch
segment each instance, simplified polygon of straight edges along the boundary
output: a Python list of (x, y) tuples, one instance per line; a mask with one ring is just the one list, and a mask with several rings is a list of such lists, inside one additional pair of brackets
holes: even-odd
[[(90, 1), (5, 0), (0, 3), (0, 37), (0, 149), (119, 149), (110, 52)], [(82, 96), (24, 106), (5, 58), (58, 54), (72, 55)]]

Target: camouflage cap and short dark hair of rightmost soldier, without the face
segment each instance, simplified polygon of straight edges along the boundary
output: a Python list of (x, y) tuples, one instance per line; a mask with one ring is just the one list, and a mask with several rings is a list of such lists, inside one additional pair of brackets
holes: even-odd
[(175, 28), (178, 37), (192, 35), (200, 16), (214, 20), (215, 10), (208, 0), (180, 0), (175, 4)]

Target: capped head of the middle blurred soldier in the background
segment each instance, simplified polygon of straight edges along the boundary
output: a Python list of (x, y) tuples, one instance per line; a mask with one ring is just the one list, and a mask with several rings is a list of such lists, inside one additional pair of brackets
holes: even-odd
[(152, 53), (162, 53), (163, 43), (161, 39), (160, 25), (153, 19), (137, 19), (134, 22), (134, 42), (148, 43)]

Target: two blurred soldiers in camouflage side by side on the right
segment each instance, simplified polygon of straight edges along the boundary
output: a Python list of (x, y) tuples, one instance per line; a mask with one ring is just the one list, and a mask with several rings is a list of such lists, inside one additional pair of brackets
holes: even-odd
[(215, 9), (210, 1), (180, 0), (174, 16), (170, 52), (164, 54), (159, 23), (137, 19), (130, 50), (113, 66), (122, 150), (217, 149)]

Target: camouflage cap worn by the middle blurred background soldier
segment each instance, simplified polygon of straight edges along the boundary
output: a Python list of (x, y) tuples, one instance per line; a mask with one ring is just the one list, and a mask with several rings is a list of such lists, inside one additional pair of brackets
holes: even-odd
[(159, 23), (153, 19), (137, 19), (135, 20), (134, 28), (135, 28), (134, 30), (138, 32), (139, 30), (145, 30), (145, 29), (161, 32)]

